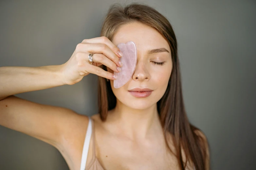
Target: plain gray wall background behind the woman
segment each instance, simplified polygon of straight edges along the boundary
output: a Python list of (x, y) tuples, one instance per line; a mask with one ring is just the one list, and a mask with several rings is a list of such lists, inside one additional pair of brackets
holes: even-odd
[[(133, 1), (1, 1), (0, 66), (65, 63), (83, 39), (100, 35), (109, 6)], [(191, 123), (206, 135), (213, 170), (254, 169), (256, 2), (147, 0), (172, 24)], [(97, 113), (97, 76), (17, 94), (33, 102)], [(54, 147), (0, 126), (1, 170), (65, 170)]]

